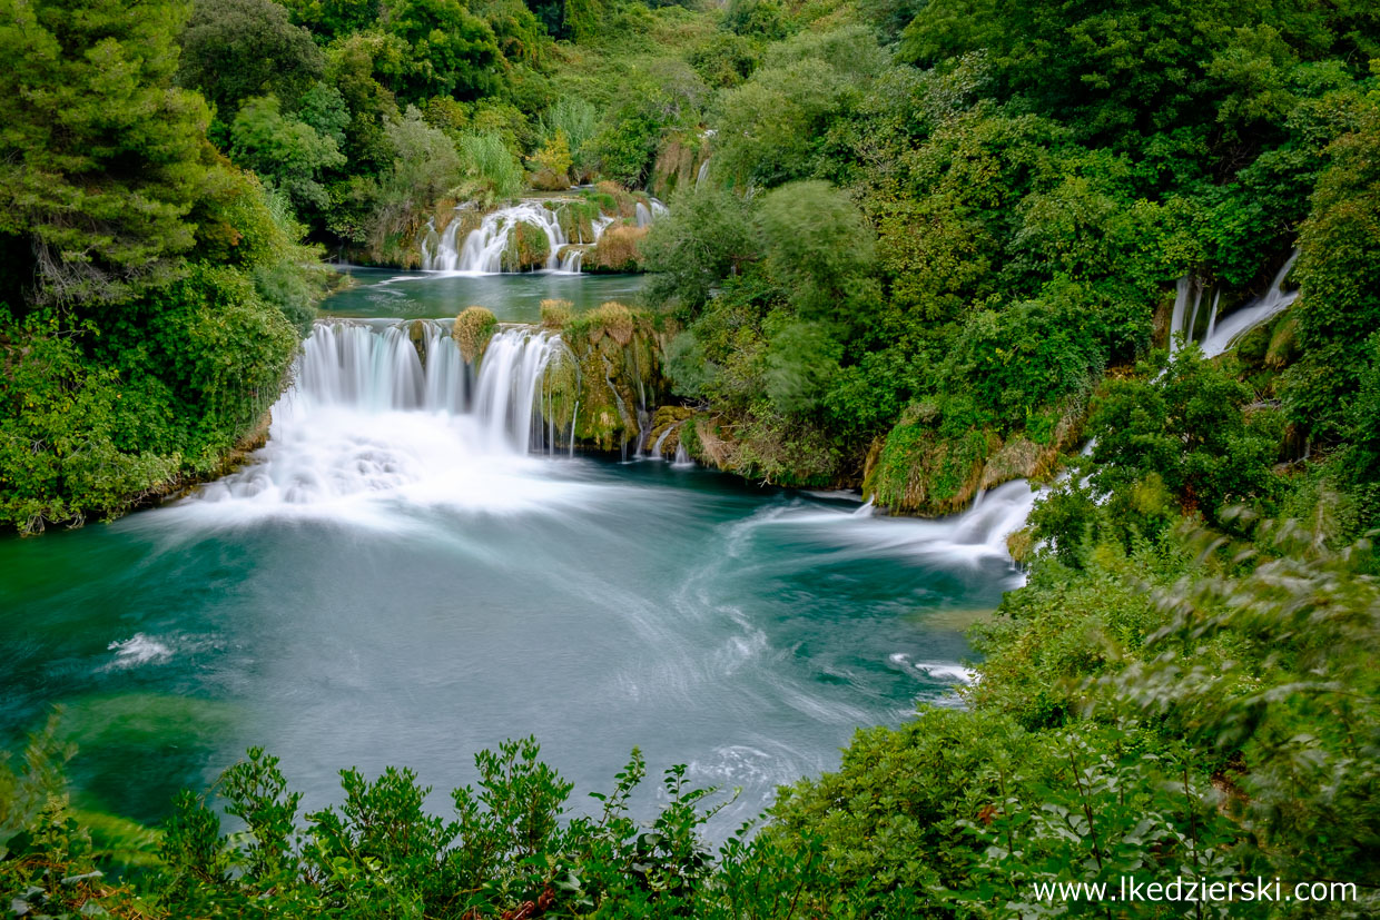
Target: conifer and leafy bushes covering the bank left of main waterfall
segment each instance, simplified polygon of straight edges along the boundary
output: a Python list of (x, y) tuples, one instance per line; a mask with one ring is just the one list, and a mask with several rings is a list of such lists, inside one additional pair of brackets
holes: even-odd
[(185, 22), (175, 3), (0, 6), (3, 527), (221, 469), (324, 290), (291, 214), (175, 86)]

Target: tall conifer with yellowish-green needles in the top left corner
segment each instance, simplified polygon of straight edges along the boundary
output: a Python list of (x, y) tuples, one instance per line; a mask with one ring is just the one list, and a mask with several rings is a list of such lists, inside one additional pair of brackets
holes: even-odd
[(163, 0), (0, 0), (0, 236), (32, 246), (11, 283), (116, 299), (192, 248), (210, 113), (172, 83), (184, 17)]

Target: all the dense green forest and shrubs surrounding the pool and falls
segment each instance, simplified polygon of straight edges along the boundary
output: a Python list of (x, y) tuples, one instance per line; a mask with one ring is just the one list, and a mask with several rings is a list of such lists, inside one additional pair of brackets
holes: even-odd
[[(76, 811), (50, 731), (0, 768), (17, 916), (1380, 910), (1373, 3), (0, 0), (0, 50), (3, 526), (215, 476), (327, 257), (571, 186), (669, 206), (625, 236), (693, 457), (894, 513), (1045, 486), (963, 706), (718, 852), (683, 768), (629, 817), (636, 752), (591, 815), (511, 742), (442, 818), (407, 770), (302, 814), (251, 750), (148, 829)], [(1351, 888), (1035, 887), (1125, 876)]]

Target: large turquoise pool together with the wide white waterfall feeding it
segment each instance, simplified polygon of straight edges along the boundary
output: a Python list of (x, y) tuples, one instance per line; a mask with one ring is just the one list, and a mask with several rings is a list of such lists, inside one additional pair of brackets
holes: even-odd
[[(404, 292), (393, 313), (437, 313), (432, 283), (385, 284)], [(835, 767), (854, 728), (955, 702), (963, 629), (1018, 581), (1003, 537), (1024, 483), (920, 521), (570, 458), (531, 419), (559, 348), (505, 327), (476, 372), (436, 323), (424, 367), (396, 321), (324, 321), (248, 468), (115, 524), (0, 541), (7, 741), (63, 705), (79, 799), (142, 819), (248, 745), (308, 806), (349, 766), (447, 790), (526, 734), (582, 800), (638, 745), (653, 771), (742, 788), (722, 833)]]

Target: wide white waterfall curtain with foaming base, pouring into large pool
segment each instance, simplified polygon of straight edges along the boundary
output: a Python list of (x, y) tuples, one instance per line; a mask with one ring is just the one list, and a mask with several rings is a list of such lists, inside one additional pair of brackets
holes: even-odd
[(391, 497), (495, 509), (551, 501), (556, 486), (527, 455), (566, 447), (538, 411), (546, 366), (564, 348), (542, 330), (501, 327), (472, 366), (446, 321), (319, 321), (273, 407), (268, 446), (188, 513), (239, 502), (244, 514), (374, 523), (392, 520), (371, 505)]

